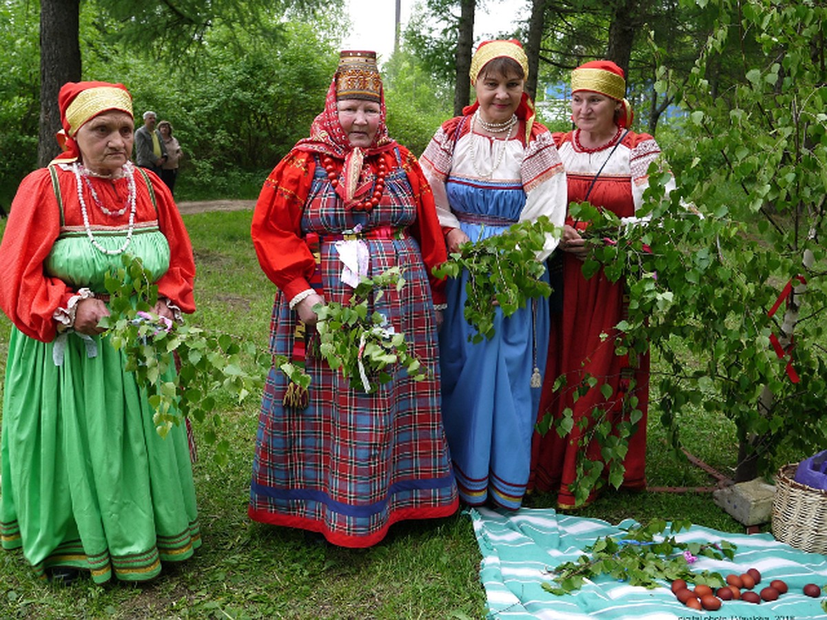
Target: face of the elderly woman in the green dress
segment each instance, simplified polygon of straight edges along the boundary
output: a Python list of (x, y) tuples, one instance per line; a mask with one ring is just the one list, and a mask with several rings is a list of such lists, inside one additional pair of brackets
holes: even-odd
[(85, 122), (74, 136), (84, 166), (98, 174), (120, 169), (132, 154), (134, 130), (127, 112), (103, 112)]

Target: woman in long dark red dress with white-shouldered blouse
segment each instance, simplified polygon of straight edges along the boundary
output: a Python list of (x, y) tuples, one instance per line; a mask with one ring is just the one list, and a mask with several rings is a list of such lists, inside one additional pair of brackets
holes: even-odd
[[(574, 131), (555, 134), (557, 150), (566, 169), (569, 203), (588, 201), (609, 209), (621, 222), (645, 221), (636, 217), (648, 187), (648, 168), (660, 160), (661, 150), (652, 136), (629, 131), (632, 109), (624, 98), (626, 81), (623, 69), (608, 60), (582, 64), (571, 74), (571, 119)], [(674, 187), (674, 180), (667, 190)], [(566, 217), (558, 252), (562, 252), (562, 312), (552, 312), (548, 360), (544, 375), (539, 417), (551, 415), (558, 422), (566, 408), (571, 408), (574, 427), (559, 436), (552, 426), (545, 435), (535, 432), (532, 446), (530, 487), (556, 492), (559, 508), (575, 508), (569, 485), (576, 478), (578, 452), (588, 432), (579, 422), (594, 417), (592, 410), (605, 411), (617, 425), (624, 414), (624, 401), (638, 398), (643, 418), (629, 437), (629, 452), (624, 460), (623, 486), (643, 489), (646, 486), (646, 419), (649, 393), (649, 355), (616, 355), (614, 326), (624, 317), (628, 299), (624, 298), (623, 280), (612, 283), (602, 270), (591, 279), (582, 273), (586, 247), (581, 236), (582, 222)], [(601, 334), (609, 334), (604, 338)], [(557, 392), (558, 377), (566, 384)], [(607, 401), (600, 389), (574, 399), (574, 392), (587, 375), (612, 388)], [(586, 458), (601, 460), (600, 446), (590, 441)], [(605, 474), (606, 472), (604, 472)], [(595, 498), (591, 494), (586, 502)]]

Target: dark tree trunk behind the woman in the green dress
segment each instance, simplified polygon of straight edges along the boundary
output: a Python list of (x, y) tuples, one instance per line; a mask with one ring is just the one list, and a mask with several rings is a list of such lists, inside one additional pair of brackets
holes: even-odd
[(66, 82), (80, 79), (80, 0), (41, 0), (41, 120), (37, 164), (48, 165), (60, 153), (57, 95)]

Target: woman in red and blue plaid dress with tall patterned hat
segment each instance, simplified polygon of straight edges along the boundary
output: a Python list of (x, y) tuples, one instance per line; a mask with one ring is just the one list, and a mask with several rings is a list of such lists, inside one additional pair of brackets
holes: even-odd
[[(440, 413), (443, 283), (430, 275), (446, 250), (417, 160), (388, 136), (374, 53), (342, 52), (310, 137), (265, 181), (251, 233), (261, 268), (278, 287), (271, 350), (303, 363), (311, 377), (307, 407), (285, 405), (289, 380), (277, 365), (270, 369), (251, 518), (366, 547), (394, 522), (454, 513), (457, 486)], [(361, 259), (356, 271), (343, 269), (348, 253)], [(404, 332), (429, 374), (414, 381), (397, 367), (389, 383), (365, 393), (313, 354), (313, 307), (343, 303), (360, 276), (390, 267), (403, 269), (404, 287), (371, 298), (370, 312)], [(307, 338), (297, 335), (298, 322)]]

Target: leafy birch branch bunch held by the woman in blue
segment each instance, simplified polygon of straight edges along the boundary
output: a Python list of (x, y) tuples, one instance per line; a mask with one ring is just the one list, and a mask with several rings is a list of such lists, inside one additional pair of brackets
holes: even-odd
[(530, 298), (548, 297), (551, 286), (544, 282), (545, 261), (538, 261), (547, 236), (559, 237), (561, 229), (546, 216), (535, 222), (518, 222), (500, 235), (468, 241), (433, 270), (437, 277), (459, 278), (468, 272), (466, 321), (476, 329), (471, 341), (490, 340), (499, 307), (509, 317), (525, 308)]

